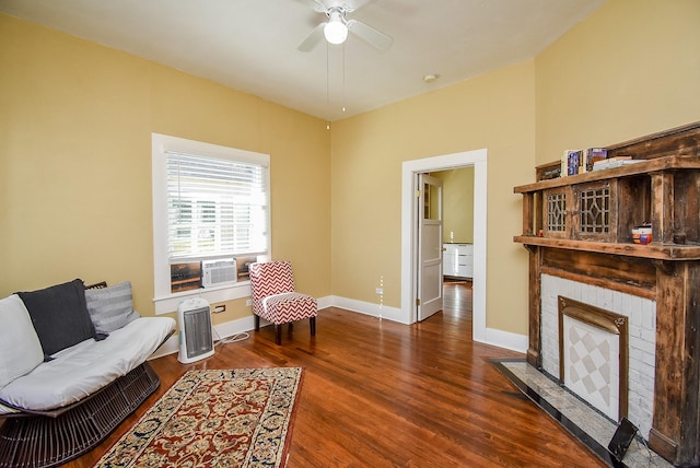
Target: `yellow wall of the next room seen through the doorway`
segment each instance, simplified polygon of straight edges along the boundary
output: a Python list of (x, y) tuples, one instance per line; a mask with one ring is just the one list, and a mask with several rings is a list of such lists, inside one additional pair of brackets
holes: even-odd
[(430, 174), (442, 180), (442, 241), (474, 242), (474, 167), (439, 171)]

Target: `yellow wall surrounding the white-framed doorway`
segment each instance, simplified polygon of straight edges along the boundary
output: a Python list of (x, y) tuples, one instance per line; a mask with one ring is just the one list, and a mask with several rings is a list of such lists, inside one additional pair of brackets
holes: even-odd
[(401, 163), (486, 148), (488, 305), (513, 311), (490, 314), (487, 326), (526, 331), (527, 255), (513, 244), (522, 225), (513, 186), (534, 172), (534, 86), (526, 61), (334, 124), (335, 295), (376, 302), (383, 276), (384, 303), (400, 307)]

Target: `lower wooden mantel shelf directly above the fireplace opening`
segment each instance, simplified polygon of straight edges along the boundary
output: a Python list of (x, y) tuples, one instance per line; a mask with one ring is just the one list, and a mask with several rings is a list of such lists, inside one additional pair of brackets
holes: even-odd
[(610, 243), (548, 238), (530, 235), (514, 236), (513, 242), (539, 247), (562, 248), (567, 250), (593, 251), (598, 254), (623, 255), (653, 260), (700, 260), (700, 245), (678, 245), (651, 243), (648, 245), (631, 243)]

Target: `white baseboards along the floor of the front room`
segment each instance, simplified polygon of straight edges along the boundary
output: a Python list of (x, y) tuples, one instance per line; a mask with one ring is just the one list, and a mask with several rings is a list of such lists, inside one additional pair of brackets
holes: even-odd
[[(328, 307), (339, 307), (346, 311), (354, 312), (358, 314), (370, 315), (377, 318), (386, 318), (387, 320), (397, 321), (404, 325), (410, 325), (405, 320), (401, 314), (401, 309), (397, 307), (387, 307), (385, 305), (374, 304), (364, 301), (357, 301), (348, 297), (340, 296), (325, 296), (318, 300), (318, 309), (323, 311)], [(267, 321), (261, 319), (260, 325), (267, 325)], [(250, 331), (255, 329), (255, 319), (253, 315), (236, 320), (225, 321), (214, 326), (214, 331), (220, 338), (229, 338), (237, 334)], [(486, 344), (491, 344), (499, 348), (509, 349), (517, 352), (526, 352), (528, 348), (528, 338), (525, 335), (512, 334), (510, 331), (497, 330), (495, 328), (487, 328), (486, 340), (480, 341)], [(173, 335), (161, 348), (151, 355), (149, 359), (162, 358), (167, 354), (179, 352), (179, 336)]]

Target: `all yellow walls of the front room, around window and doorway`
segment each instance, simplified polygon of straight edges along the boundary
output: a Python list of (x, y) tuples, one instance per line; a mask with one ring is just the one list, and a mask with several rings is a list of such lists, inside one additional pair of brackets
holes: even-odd
[[(270, 153), (273, 255), (295, 260), (300, 288), (371, 303), (383, 277), (385, 304), (400, 307), (401, 163), (486, 148), (487, 326), (526, 335), (513, 186), (564, 149), (700, 120), (698, 24), (697, 0), (608, 0), (534, 60), (328, 132), (258, 97), (0, 15), (0, 295), (130, 279), (137, 308), (152, 313), (154, 131)], [(219, 321), (248, 313), (228, 308)]]

